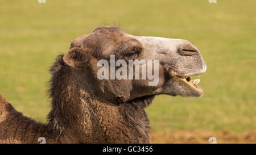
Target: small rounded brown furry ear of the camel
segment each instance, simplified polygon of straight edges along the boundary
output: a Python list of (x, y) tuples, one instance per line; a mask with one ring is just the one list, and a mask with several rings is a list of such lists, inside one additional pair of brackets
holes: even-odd
[(92, 56), (88, 49), (84, 48), (72, 48), (63, 57), (65, 64), (72, 66), (73, 68), (83, 68), (90, 61)]

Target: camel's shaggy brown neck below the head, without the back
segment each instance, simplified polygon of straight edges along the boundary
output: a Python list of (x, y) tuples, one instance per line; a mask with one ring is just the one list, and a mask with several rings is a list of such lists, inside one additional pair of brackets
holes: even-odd
[(92, 76), (77, 79), (61, 60), (51, 72), (48, 124), (57, 135), (73, 143), (149, 143), (144, 99), (110, 103), (96, 93), (99, 88), (87, 78)]

